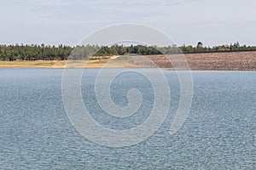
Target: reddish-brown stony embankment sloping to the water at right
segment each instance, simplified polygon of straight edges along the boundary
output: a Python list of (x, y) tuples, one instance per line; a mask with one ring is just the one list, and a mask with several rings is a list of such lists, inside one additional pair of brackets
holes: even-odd
[[(256, 71), (256, 52), (184, 54), (191, 70)], [(168, 59), (166, 59), (166, 57)], [(135, 65), (143, 67), (184, 68), (181, 54), (133, 56)], [(172, 61), (170, 63), (169, 59)]]

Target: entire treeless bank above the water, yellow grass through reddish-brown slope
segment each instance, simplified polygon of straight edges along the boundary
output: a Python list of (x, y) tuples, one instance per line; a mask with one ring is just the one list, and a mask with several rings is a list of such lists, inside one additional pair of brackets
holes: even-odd
[[(169, 57), (172, 58), (172, 55)], [(191, 70), (256, 71), (256, 52), (185, 54), (185, 57)], [(178, 56), (172, 61), (180, 62)], [(0, 61), (0, 68), (151, 68), (155, 66), (172, 68), (170, 61), (163, 55), (111, 56), (86, 61)]]

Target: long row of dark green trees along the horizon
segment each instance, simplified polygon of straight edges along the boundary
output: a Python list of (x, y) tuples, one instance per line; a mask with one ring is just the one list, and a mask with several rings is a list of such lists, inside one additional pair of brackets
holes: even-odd
[(109, 56), (123, 54), (195, 54), (195, 53), (216, 53), (216, 52), (239, 52), (256, 51), (256, 46), (240, 45), (239, 42), (230, 45), (220, 45), (214, 47), (204, 47), (202, 42), (198, 42), (195, 47), (183, 45), (170, 45), (168, 47), (144, 46), (144, 45), (79, 45), (70, 47), (66, 45), (0, 45), (0, 60), (66, 60), (66, 59), (86, 59), (90, 56)]

